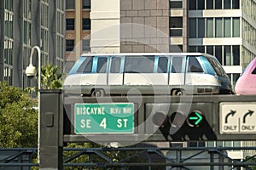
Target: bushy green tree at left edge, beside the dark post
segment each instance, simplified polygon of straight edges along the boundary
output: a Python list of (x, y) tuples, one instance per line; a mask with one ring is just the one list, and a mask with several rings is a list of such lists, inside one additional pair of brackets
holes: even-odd
[(38, 105), (20, 88), (0, 82), (0, 147), (36, 147)]

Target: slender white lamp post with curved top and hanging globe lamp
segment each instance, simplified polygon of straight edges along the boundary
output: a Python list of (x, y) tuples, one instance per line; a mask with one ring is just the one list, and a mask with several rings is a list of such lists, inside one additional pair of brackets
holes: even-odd
[[(41, 50), (38, 46), (32, 48), (30, 54), (30, 63), (26, 67), (26, 76), (34, 77), (36, 76), (36, 67), (32, 65), (32, 56), (34, 54), (35, 49), (38, 51), (38, 90), (41, 89)], [(40, 141), (40, 93), (38, 94), (38, 162), (39, 162), (39, 141)]]

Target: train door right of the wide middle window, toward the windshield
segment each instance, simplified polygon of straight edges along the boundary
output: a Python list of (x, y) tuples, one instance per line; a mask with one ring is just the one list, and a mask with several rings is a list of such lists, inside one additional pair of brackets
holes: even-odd
[(186, 59), (183, 56), (172, 56), (169, 85), (181, 86), (185, 83)]

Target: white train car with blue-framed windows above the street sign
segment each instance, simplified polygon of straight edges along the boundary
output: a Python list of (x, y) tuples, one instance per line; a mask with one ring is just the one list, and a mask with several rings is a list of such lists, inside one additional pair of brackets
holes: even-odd
[(83, 54), (63, 86), (67, 94), (232, 94), (218, 59), (201, 53)]

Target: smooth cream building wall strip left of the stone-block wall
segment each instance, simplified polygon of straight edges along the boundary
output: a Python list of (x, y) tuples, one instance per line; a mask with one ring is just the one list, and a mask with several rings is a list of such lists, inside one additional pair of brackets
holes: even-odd
[(91, 1), (91, 53), (120, 52), (119, 0)]

